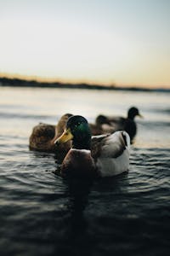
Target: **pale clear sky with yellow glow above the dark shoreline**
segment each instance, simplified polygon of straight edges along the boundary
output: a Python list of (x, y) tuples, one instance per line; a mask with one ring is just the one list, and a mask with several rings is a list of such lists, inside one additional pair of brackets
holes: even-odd
[(170, 88), (170, 0), (0, 0), (0, 75)]

